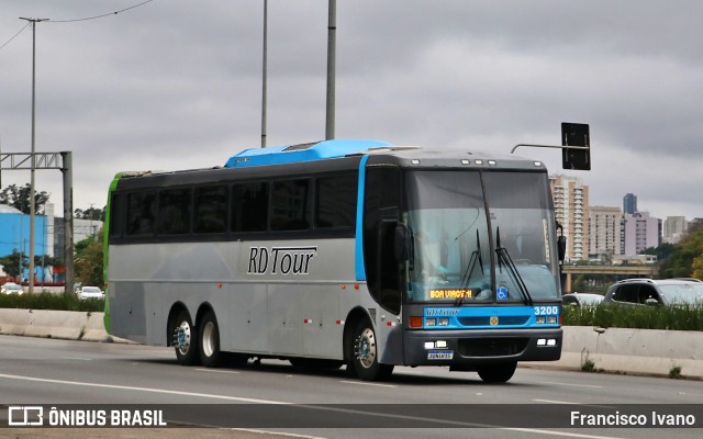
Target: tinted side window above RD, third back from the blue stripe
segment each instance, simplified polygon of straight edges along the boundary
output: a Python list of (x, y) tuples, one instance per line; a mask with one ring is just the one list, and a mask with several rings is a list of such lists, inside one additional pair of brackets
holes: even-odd
[(268, 184), (245, 183), (232, 187), (232, 232), (266, 230)]

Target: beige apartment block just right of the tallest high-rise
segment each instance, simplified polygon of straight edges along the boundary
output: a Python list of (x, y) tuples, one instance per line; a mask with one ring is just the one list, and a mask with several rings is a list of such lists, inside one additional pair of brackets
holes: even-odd
[(589, 209), (589, 257), (610, 259), (621, 254), (621, 223), (623, 212), (620, 207), (591, 206)]

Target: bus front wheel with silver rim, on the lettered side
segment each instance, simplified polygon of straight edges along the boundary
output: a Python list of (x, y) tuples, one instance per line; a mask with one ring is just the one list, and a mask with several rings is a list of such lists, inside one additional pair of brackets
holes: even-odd
[(359, 322), (350, 344), (349, 365), (362, 381), (387, 380), (393, 373), (392, 364), (378, 362), (376, 349), (376, 331), (367, 319)]

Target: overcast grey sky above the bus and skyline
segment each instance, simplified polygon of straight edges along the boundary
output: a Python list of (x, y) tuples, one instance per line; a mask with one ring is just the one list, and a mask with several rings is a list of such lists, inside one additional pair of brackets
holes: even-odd
[[(0, 0), (36, 26), (36, 150), (71, 150), (74, 207), (123, 170), (221, 166), (260, 146), (263, 0)], [(336, 137), (509, 153), (591, 126), (591, 205), (632, 192), (703, 217), (703, 2), (338, 0)], [(268, 1), (269, 146), (324, 139), (327, 0)], [(32, 32), (0, 49), (2, 153), (31, 150)], [(3, 171), (2, 185), (29, 171)], [(37, 190), (62, 212), (59, 171)]]

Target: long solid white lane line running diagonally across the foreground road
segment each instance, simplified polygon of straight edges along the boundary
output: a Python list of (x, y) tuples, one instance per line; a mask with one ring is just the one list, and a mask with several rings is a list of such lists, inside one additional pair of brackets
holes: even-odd
[[(164, 389), (152, 389), (152, 387), (135, 387), (135, 386), (129, 386), (129, 385), (81, 383), (79, 381), (49, 380), (49, 379), (34, 378), (34, 376), (10, 375), (5, 373), (0, 373), (0, 378), (7, 378), (10, 380), (19, 380), (19, 381), (33, 381), (38, 383), (54, 383), (54, 384), (78, 385), (78, 386), (86, 386), (86, 387), (101, 387), (101, 389), (116, 389), (116, 390), (149, 392), (149, 393), (163, 393), (168, 395), (196, 396), (196, 397), (203, 397), (203, 398), (211, 398), (211, 399), (238, 401), (238, 402), (245, 402), (245, 403), (258, 403), (258, 404), (271, 404), (271, 405), (294, 404), (294, 403), (286, 403), (282, 401), (255, 399), (255, 398), (245, 398), (245, 397), (238, 397), (238, 396), (212, 395), (209, 393), (179, 392), (179, 391), (169, 391)], [(299, 404), (299, 406), (311, 408), (311, 409), (324, 410), (324, 412), (339, 412), (339, 413), (349, 413), (355, 415), (388, 417), (393, 419), (403, 419), (403, 420), (413, 420), (413, 421), (422, 420), (426, 423), (435, 423), (435, 424), (444, 424), (444, 425), (449, 424), (449, 425), (455, 425), (455, 426), (466, 427), (466, 428), (476, 428), (476, 427), (496, 428), (496, 429), (507, 430), (507, 431), (525, 431), (525, 432), (542, 434), (542, 435), (549, 435), (549, 436), (562, 436), (562, 437), (583, 438), (583, 439), (622, 439), (622, 438), (610, 437), (610, 436), (593, 436), (593, 435), (583, 435), (583, 434), (567, 432), (567, 431), (543, 430), (537, 428), (514, 428), (514, 427), (504, 427), (504, 426), (490, 425), (490, 424), (434, 419), (434, 418), (415, 417), (415, 416), (408, 416), (408, 415), (392, 415), (392, 414), (372, 413), (372, 412), (365, 412), (365, 410), (355, 410), (355, 409), (348, 409), (348, 408), (335, 408), (330, 406), (313, 406), (313, 405), (306, 405), (306, 404)]]

